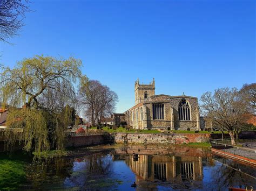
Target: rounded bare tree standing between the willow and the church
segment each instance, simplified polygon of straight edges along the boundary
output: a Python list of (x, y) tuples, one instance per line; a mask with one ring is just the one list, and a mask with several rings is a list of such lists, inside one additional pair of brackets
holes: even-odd
[(111, 115), (118, 101), (117, 94), (97, 80), (80, 85), (78, 98), (92, 125), (99, 124), (102, 117)]

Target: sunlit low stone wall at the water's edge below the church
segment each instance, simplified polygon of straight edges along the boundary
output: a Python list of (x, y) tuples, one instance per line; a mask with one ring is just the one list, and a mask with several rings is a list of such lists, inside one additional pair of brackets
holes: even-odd
[(116, 143), (134, 144), (183, 144), (204, 143), (210, 134), (204, 133), (113, 133)]

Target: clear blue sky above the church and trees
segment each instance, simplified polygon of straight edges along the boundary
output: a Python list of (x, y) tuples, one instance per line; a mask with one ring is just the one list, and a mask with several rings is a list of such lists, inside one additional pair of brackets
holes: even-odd
[[(32, 1), (32, 0), (31, 0)], [(255, 82), (255, 1), (32, 1), (19, 36), (0, 42), (0, 63), (70, 55), (83, 73), (134, 105), (134, 81), (156, 94), (200, 97)]]

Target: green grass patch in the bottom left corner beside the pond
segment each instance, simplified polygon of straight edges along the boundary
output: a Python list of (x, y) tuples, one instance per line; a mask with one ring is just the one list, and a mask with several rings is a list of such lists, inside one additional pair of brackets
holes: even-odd
[(0, 160), (0, 190), (18, 189), (25, 181), (24, 163), (17, 160)]

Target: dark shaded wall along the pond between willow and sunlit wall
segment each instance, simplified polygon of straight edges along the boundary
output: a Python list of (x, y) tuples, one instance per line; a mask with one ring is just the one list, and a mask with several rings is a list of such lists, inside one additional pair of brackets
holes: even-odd
[(104, 135), (90, 135), (90, 136), (76, 136), (69, 137), (66, 142), (66, 146), (79, 147), (79, 146), (91, 146), (101, 145), (107, 143)]

